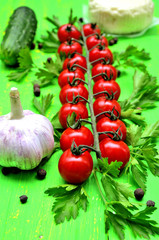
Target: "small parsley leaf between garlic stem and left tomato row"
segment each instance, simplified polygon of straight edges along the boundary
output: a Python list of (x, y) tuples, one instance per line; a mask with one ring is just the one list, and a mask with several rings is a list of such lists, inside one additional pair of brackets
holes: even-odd
[(47, 94), (46, 96), (42, 96), (41, 100), (37, 100), (36, 97), (33, 99), (33, 105), (34, 107), (39, 111), (40, 114), (44, 115), (46, 114), (46, 111), (50, 107), (53, 99), (53, 94)]

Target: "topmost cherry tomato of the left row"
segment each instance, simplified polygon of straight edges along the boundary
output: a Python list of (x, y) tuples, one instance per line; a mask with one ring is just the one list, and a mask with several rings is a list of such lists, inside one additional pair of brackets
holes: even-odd
[(81, 32), (72, 24), (64, 24), (59, 27), (57, 35), (60, 42), (65, 42), (71, 38), (79, 39)]

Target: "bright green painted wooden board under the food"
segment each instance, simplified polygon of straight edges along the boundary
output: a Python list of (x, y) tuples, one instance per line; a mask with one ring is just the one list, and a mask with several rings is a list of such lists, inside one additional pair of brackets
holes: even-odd
[[(159, 17), (159, 2), (155, 0), (155, 16)], [(57, 15), (60, 17), (61, 22), (65, 23), (69, 15), (70, 8), (78, 17), (83, 14), (87, 15), (86, 0), (69, 1), (69, 0), (8, 0), (2, 1), (0, 4), (0, 40), (2, 39), (4, 29), (7, 25), (9, 16), (13, 10), (19, 6), (29, 6), (32, 8), (38, 19), (38, 30), (36, 40), (40, 39), (41, 34), (45, 34), (46, 29), (50, 29), (50, 24), (44, 19), (46, 16)], [(153, 76), (159, 78), (159, 26), (150, 29), (144, 36), (138, 38), (120, 38), (117, 45), (111, 47), (112, 51), (121, 51), (129, 44), (134, 44), (140, 49), (145, 48), (150, 52), (151, 60), (147, 62), (148, 70)], [(35, 63), (41, 67), (47, 57), (54, 57), (53, 54), (44, 54), (37, 48), (32, 51), (32, 57)], [(20, 83), (9, 82), (6, 75), (11, 72), (0, 61), (0, 115), (7, 114), (10, 111), (9, 91), (11, 87), (18, 87), (21, 94), (21, 101), (24, 109), (30, 109), (36, 112), (32, 105), (33, 99), (33, 86), (32, 81), (36, 79), (34, 72), (29, 75)], [(125, 99), (131, 94), (132, 91), (132, 75), (133, 71), (128, 69), (127, 74), (118, 79), (121, 86), (121, 98)], [(53, 93), (54, 101), (50, 110), (47, 112), (47, 117), (51, 117), (59, 110), (59, 91), (60, 88), (57, 82), (53, 86), (43, 88), (42, 94)], [(144, 113), (148, 123), (155, 122), (159, 117), (159, 104), (153, 110)], [(44, 191), (52, 186), (64, 183), (61, 179), (57, 164), (61, 151), (55, 153), (49, 162), (44, 165), (47, 171), (46, 179), (39, 181), (36, 178), (36, 171), (21, 172), (19, 174), (10, 174), (4, 176), (0, 173), (0, 239), (1, 240), (101, 240), (105, 239), (104, 234), (104, 207), (102, 199), (93, 181), (90, 178), (86, 190), (89, 195), (89, 206), (86, 213), (80, 211), (76, 220), (65, 222), (56, 225), (51, 212), (53, 198), (44, 194)], [(122, 179), (125, 182), (131, 183), (131, 179)], [(159, 178), (153, 177), (151, 173), (148, 176), (147, 192), (144, 196), (143, 203), (151, 199), (156, 202), (159, 208), (159, 194), (158, 194)], [(133, 189), (136, 186), (133, 185)], [(28, 202), (21, 204), (19, 196), (26, 194)], [(154, 214), (154, 219), (158, 221), (159, 210)], [(116, 235), (111, 231), (110, 239), (115, 240)], [(126, 239), (133, 240), (132, 233), (126, 230)], [(159, 239), (152, 237), (151, 239)]]

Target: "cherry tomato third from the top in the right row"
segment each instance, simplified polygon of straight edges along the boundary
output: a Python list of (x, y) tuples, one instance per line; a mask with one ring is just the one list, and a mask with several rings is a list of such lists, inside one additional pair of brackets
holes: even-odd
[(113, 54), (109, 48), (105, 46), (97, 46), (89, 52), (89, 61), (90, 62), (95, 61), (94, 63), (92, 63), (93, 66), (103, 61), (106, 61), (107, 63), (112, 64)]

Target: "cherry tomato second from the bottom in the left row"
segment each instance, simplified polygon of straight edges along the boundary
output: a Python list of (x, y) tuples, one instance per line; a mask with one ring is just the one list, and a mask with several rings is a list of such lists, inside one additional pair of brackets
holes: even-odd
[(92, 132), (85, 126), (81, 126), (79, 129), (67, 128), (61, 135), (60, 147), (62, 151), (71, 148), (72, 142), (75, 142), (77, 146), (87, 145), (93, 147), (94, 137)]

